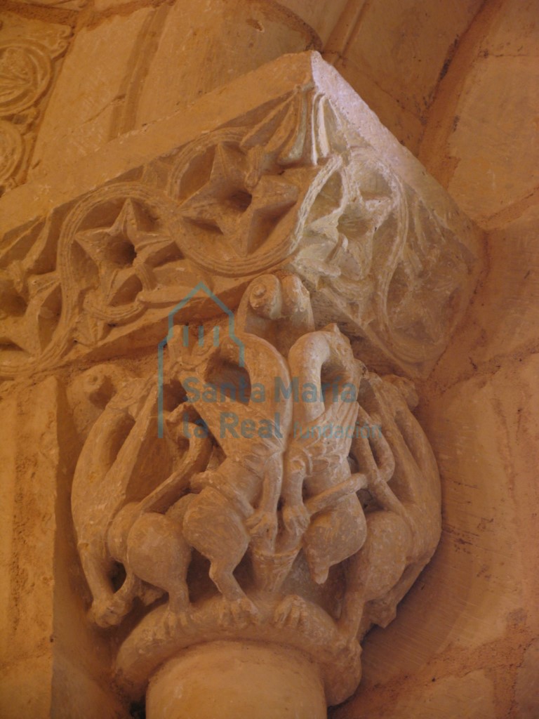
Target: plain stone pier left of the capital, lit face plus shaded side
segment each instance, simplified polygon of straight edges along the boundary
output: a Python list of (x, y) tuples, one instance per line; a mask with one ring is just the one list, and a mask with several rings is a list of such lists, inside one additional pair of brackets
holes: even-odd
[[(70, 526), (76, 446), (54, 377), (0, 404), (0, 714), (6, 718), (119, 715), (103, 666), (108, 641), (81, 623), (83, 577)], [(121, 708), (123, 712), (123, 707)], [(123, 716), (123, 715), (122, 715)]]

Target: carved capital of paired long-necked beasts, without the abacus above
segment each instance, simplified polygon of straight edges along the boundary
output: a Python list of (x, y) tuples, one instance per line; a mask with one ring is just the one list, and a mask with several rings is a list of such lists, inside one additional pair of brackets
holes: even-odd
[(134, 697), (186, 649), (239, 641), (303, 652), (336, 704), (361, 677), (359, 638), (436, 548), (436, 461), (410, 383), (367, 372), (336, 324), (315, 329), (298, 275), (253, 280), (223, 319), (209, 339), (208, 323), (172, 326), (158, 388), (88, 370), (104, 407), (72, 505), (91, 618), (137, 618), (116, 660)]

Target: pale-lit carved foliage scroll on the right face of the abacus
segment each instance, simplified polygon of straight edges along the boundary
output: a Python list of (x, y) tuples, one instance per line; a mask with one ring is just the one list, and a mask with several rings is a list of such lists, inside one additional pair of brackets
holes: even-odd
[(320, 217), (318, 203), (311, 210), (295, 267), (315, 304), (338, 306), (350, 334), (410, 370), (446, 346), (476, 257), (372, 148), (342, 160), (319, 196)]

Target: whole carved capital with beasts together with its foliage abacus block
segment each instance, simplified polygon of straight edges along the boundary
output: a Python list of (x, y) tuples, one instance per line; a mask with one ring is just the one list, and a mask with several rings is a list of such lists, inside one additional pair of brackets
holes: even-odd
[(476, 230), (315, 52), (56, 172), (0, 199), (0, 372), (69, 375), (116, 681), (154, 677), (157, 718), (199, 645), (277, 674), (278, 646), (343, 701), (438, 543), (407, 377), (466, 309)]

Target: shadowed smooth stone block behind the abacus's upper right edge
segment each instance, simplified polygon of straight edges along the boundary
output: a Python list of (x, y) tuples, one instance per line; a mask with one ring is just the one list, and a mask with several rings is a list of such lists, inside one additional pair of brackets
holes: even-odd
[(480, 0), (369, 3), (327, 57), (406, 147), (417, 152), (438, 79)]

